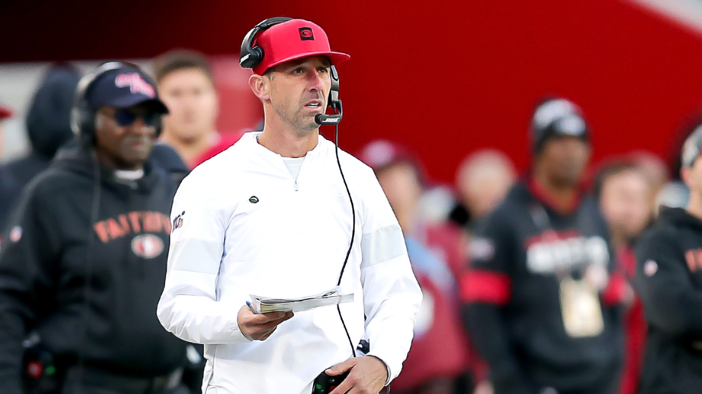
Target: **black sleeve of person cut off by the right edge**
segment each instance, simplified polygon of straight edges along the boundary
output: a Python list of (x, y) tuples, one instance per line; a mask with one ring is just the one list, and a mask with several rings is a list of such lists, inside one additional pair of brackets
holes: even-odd
[(702, 289), (692, 282), (675, 233), (665, 230), (648, 233), (637, 245), (635, 286), (646, 318), (671, 335), (702, 334)]

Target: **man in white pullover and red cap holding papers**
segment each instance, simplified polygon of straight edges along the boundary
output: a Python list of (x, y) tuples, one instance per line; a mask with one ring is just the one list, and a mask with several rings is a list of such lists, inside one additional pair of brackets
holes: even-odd
[[(402, 369), (422, 297), (402, 231), (373, 170), (343, 151), (337, 163), (314, 120), (331, 98), (331, 66), (349, 58), (312, 22), (257, 25), (241, 62), (265, 128), (176, 193), (157, 314), (205, 345), (205, 394), (307, 394), (320, 373), (347, 371), (333, 394), (378, 393)], [(246, 306), (249, 294), (303, 297), (337, 283), (353, 302), (294, 317)], [(361, 339), (370, 351), (354, 357)]]

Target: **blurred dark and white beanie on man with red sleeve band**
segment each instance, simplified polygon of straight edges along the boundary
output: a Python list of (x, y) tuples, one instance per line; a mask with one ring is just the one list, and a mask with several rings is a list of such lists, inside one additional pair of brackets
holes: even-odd
[(536, 107), (531, 119), (531, 132), (534, 151), (537, 152), (550, 137), (569, 136), (585, 142), (590, 140), (588, 124), (580, 107), (562, 98), (546, 100)]

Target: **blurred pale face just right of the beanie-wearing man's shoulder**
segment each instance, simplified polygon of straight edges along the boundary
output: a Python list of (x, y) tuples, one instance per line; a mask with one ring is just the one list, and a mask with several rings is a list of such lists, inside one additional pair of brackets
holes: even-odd
[(640, 235), (651, 219), (651, 187), (640, 170), (609, 175), (602, 183), (600, 209), (610, 229), (626, 240)]

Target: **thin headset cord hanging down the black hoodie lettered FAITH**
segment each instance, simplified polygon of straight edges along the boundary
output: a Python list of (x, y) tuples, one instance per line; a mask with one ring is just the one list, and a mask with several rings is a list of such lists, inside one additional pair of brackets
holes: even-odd
[(83, 318), (81, 325), (81, 342), (78, 349), (78, 382), (80, 383), (83, 379), (83, 367), (85, 364), (85, 346), (87, 343), (88, 334), (88, 315), (90, 312), (90, 298), (91, 298), (91, 283), (93, 278), (93, 226), (95, 222), (98, 222), (98, 215), (100, 212), (100, 165), (98, 163), (98, 158), (95, 157), (95, 151), (91, 149), (91, 157), (93, 158), (93, 202), (91, 204), (91, 217), (88, 223), (88, 238), (86, 238), (86, 273), (85, 273), (85, 284), (83, 287)]

